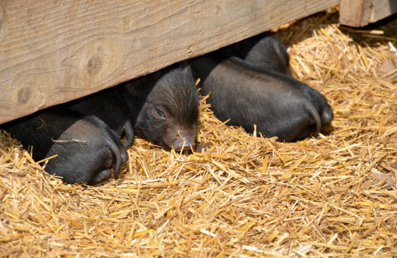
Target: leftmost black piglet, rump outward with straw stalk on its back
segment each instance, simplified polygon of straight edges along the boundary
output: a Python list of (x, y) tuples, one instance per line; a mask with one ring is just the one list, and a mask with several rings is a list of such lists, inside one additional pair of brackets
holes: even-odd
[(118, 135), (94, 116), (55, 109), (2, 125), (38, 161), (50, 159), (46, 172), (62, 177), (66, 183), (97, 184), (111, 175), (117, 179), (128, 156)]

